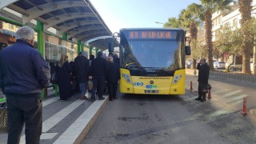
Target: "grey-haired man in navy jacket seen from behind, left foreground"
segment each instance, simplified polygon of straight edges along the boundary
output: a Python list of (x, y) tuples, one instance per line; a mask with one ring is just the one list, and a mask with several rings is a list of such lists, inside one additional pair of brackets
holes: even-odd
[(34, 30), (22, 26), (16, 42), (0, 51), (0, 86), (8, 115), (8, 144), (20, 141), (25, 124), (26, 143), (38, 144), (42, 134), (41, 94), (50, 82), (50, 67), (34, 49)]

